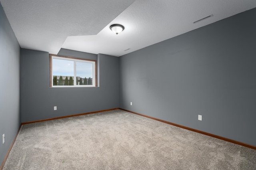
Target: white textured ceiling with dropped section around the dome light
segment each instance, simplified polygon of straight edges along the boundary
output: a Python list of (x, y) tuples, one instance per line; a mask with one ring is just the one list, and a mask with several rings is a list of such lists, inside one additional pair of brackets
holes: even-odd
[[(256, 8), (256, 0), (0, 0), (20, 47), (121, 56)], [(200, 20), (213, 14), (206, 20)], [(110, 25), (125, 29), (116, 35)], [(130, 48), (130, 49), (129, 49)], [(124, 51), (129, 49), (127, 51)]]

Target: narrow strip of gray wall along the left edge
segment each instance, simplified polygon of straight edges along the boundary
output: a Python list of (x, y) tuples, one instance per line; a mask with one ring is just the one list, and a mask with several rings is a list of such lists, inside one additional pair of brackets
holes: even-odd
[[(20, 127), (20, 45), (0, 4), (0, 165)], [(2, 135), (5, 142), (2, 144)]]

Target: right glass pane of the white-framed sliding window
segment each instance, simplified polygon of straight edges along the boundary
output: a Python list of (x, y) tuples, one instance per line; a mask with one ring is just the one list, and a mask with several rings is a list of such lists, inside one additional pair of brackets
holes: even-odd
[(77, 85), (92, 85), (92, 63), (76, 62)]

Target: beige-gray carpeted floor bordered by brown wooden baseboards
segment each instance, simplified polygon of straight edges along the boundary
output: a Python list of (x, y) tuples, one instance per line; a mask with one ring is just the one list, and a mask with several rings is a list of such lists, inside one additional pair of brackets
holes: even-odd
[(122, 110), (22, 125), (4, 170), (256, 170), (256, 150)]

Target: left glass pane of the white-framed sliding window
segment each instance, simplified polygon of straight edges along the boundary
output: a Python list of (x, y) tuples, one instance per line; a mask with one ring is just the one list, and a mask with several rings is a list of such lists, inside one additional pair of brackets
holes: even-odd
[(52, 59), (52, 79), (53, 85), (74, 85), (74, 61)]

